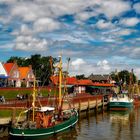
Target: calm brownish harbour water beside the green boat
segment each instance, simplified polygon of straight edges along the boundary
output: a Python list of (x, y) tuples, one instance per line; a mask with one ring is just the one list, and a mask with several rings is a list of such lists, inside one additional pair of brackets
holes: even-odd
[[(0, 139), (8, 140), (7, 137)], [(140, 108), (83, 114), (75, 129), (40, 140), (140, 140)]]

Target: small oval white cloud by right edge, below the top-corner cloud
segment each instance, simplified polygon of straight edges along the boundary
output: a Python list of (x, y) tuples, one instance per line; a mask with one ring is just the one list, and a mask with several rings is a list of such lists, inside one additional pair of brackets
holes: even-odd
[(125, 26), (135, 26), (136, 24), (139, 23), (139, 19), (138, 18), (124, 18), (120, 21), (120, 24), (123, 24)]

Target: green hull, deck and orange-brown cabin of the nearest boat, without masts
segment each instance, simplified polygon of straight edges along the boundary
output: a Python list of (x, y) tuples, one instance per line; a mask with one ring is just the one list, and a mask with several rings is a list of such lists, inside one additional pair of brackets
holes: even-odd
[[(57, 116), (53, 111), (50, 107), (36, 109), (35, 121), (29, 120), (15, 124), (11, 127), (10, 135), (14, 137), (24, 137), (25, 139), (49, 136), (74, 127), (78, 121), (78, 113), (76, 110), (62, 111), (61, 116)], [(32, 115), (32, 110), (28, 110), (27, 113)]]

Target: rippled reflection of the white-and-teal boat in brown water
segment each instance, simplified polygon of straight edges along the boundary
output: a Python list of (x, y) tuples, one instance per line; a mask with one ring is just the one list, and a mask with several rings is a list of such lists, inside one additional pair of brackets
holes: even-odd
[(134, 111), (121, 111), (110, 113), (111, 129), (114, 130), (115, 140), (133, 140), (133, 128), (135, 122)]

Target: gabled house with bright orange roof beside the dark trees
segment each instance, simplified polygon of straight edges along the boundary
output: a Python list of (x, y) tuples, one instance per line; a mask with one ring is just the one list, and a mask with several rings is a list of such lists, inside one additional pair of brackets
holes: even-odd
[(21, 87), (32, 87), (35, 80), (32, 66), (30, 65), (29, 67), (19, 67), (18, 70)]

